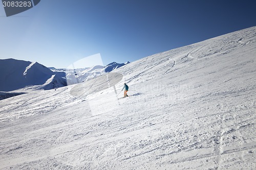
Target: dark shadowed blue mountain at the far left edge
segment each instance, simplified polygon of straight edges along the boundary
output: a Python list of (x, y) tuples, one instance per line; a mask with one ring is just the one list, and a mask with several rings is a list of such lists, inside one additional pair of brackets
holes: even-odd
[(64, 72), (53, 72), (37, 62), (0, 60), (0, 72), (0, 91), (21, 88), (49, 90), (67, 85)]

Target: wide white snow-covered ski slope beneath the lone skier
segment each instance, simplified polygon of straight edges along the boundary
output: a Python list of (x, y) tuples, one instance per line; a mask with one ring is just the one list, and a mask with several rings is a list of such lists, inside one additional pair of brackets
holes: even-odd
[(0, 169), (255, 169), (255, 59), (252, 27), (2, 100)]

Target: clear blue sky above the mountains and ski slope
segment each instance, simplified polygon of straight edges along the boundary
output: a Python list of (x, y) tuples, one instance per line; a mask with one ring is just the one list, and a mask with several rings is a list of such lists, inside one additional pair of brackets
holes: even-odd
[(41, 0), (6, 17), (0, 59), (65, 68), (100, 53), (103, 64), (135, 61), (256, 26), (256, 1)]

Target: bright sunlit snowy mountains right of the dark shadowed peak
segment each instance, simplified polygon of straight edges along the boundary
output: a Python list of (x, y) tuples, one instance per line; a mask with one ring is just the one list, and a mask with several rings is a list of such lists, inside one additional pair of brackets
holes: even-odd
[(50, 69), (55, 72), (66, 72), (67, 83), (68, 85), (72, 85), (94, 79), (102, 74), (105, 74), (106, 72), (111, 72), (129, 63), (129, 61), (125, 63), (112, 62), (106, 66), (96, 65), (89, 68), (56, 69), (54, 67), (51, 67)]

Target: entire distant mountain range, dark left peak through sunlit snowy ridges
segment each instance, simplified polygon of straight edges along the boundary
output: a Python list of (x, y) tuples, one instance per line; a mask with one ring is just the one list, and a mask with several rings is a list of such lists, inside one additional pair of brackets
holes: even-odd
[(90, 68), (57, 69), (46, 67), (37, 62), (1, 59), (0, 91), (49, 90), (93, 79), (104, 72), (115, 70), (126, 63), (112, 62), (106, 66), (96, 65)]

